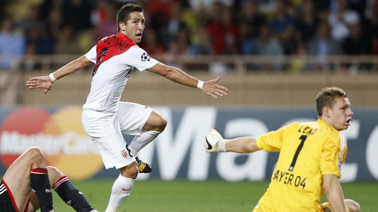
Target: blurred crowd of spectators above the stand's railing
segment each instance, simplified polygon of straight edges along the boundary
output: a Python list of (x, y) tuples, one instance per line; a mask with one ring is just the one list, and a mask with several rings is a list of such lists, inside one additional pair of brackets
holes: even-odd
[(3, 0), (0, 69), (25, 54), (83, 54), (145, 9), (151, 55), (377, 55), (378, 0)]

